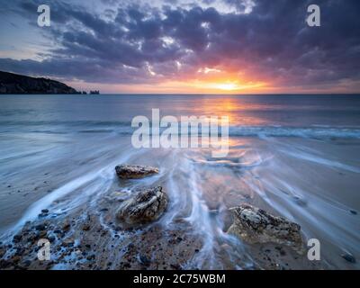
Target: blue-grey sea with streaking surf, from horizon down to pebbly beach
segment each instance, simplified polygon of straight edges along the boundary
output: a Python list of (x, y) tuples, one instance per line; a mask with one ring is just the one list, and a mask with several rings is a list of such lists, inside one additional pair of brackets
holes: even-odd
[[(228, 157), (132, 148), (132, 118), (153, 108), (229, 116)], [(130, 162), (160, 167), (174, 208), (164, 221), (191, 204), (187, 219), (209, 244), (203, 255), (222, 237), (209, 211), (250, 202), (300, 223), (330, 267), (346, 268), (341, 253), (360, 257), (358, 155), (360, 95), (2, 95), (0, 233), (46, 207), (96, 203), (113, 166)]]

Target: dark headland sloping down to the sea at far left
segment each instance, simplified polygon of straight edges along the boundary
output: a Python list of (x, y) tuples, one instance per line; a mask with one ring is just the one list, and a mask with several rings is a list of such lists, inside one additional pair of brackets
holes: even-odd
[(81, 92), (55, 80), (0, 71), (0, 94), (81, 94)]

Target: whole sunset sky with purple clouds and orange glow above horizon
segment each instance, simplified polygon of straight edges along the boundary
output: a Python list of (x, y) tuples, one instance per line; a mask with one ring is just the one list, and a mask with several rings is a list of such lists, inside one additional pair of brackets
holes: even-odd
[[(320, 27), (305, 23), (309, 4)], [(0, 11), (0, 70), (78, 90), (360, 92), (358, 0), (1, 0)]]

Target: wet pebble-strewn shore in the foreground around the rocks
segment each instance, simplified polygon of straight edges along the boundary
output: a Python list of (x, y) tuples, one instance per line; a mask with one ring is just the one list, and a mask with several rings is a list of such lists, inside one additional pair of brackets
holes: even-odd
[[(25, 223), (9, 243), (0, 246), (1, 269), (324, 269), (292, 247), (276, 243), (248, 244), (232, 236), (206, 243), (202, 231), (195, 231), (188, 216), (171, 222), (163, 218), (138, 227), (125, 227), (115, 218), (123, 202), (127, 181), (118, 181), (116, 191), (106, 194), (96, 209), (83, 205), (65, 214), (44, 209), (37, 220)], [(113, 187), (115, 188), (115, 187)], [(119, 190), (120, 189), (120, 190)], [(169, 208), (168, 208), (169, 209)], [(167, 209), (167, 210), (168, 210)], [(223, 213), (230, 218), (229, 211)], [(165, 211), (166, 214), (166, 211)], [(231, 220), (219, 231), (226, 234)], [(37, 258), (40, 238), (49, 239), (51, 259)], [(205, 241), (205, 242), (204, 242)], [(5, 245), (4, 245), (5, 244)], [(229, 257), (229, 252), (238, 249)], [(209, 254), (209, 251), (214, 251)], [(166, 259), (166, 260), (165, 260)]]

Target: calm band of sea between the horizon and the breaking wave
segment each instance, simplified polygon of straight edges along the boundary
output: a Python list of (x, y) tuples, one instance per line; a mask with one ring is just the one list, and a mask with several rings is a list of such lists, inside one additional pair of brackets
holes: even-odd
[(131, 119), (150, 117), (152, 108), (161, 116), (226, 115), (238, 136), (359, 137), (360, 128), (359, 95), (2, 95), (0, 103), (2, 132), (131, 132)]

